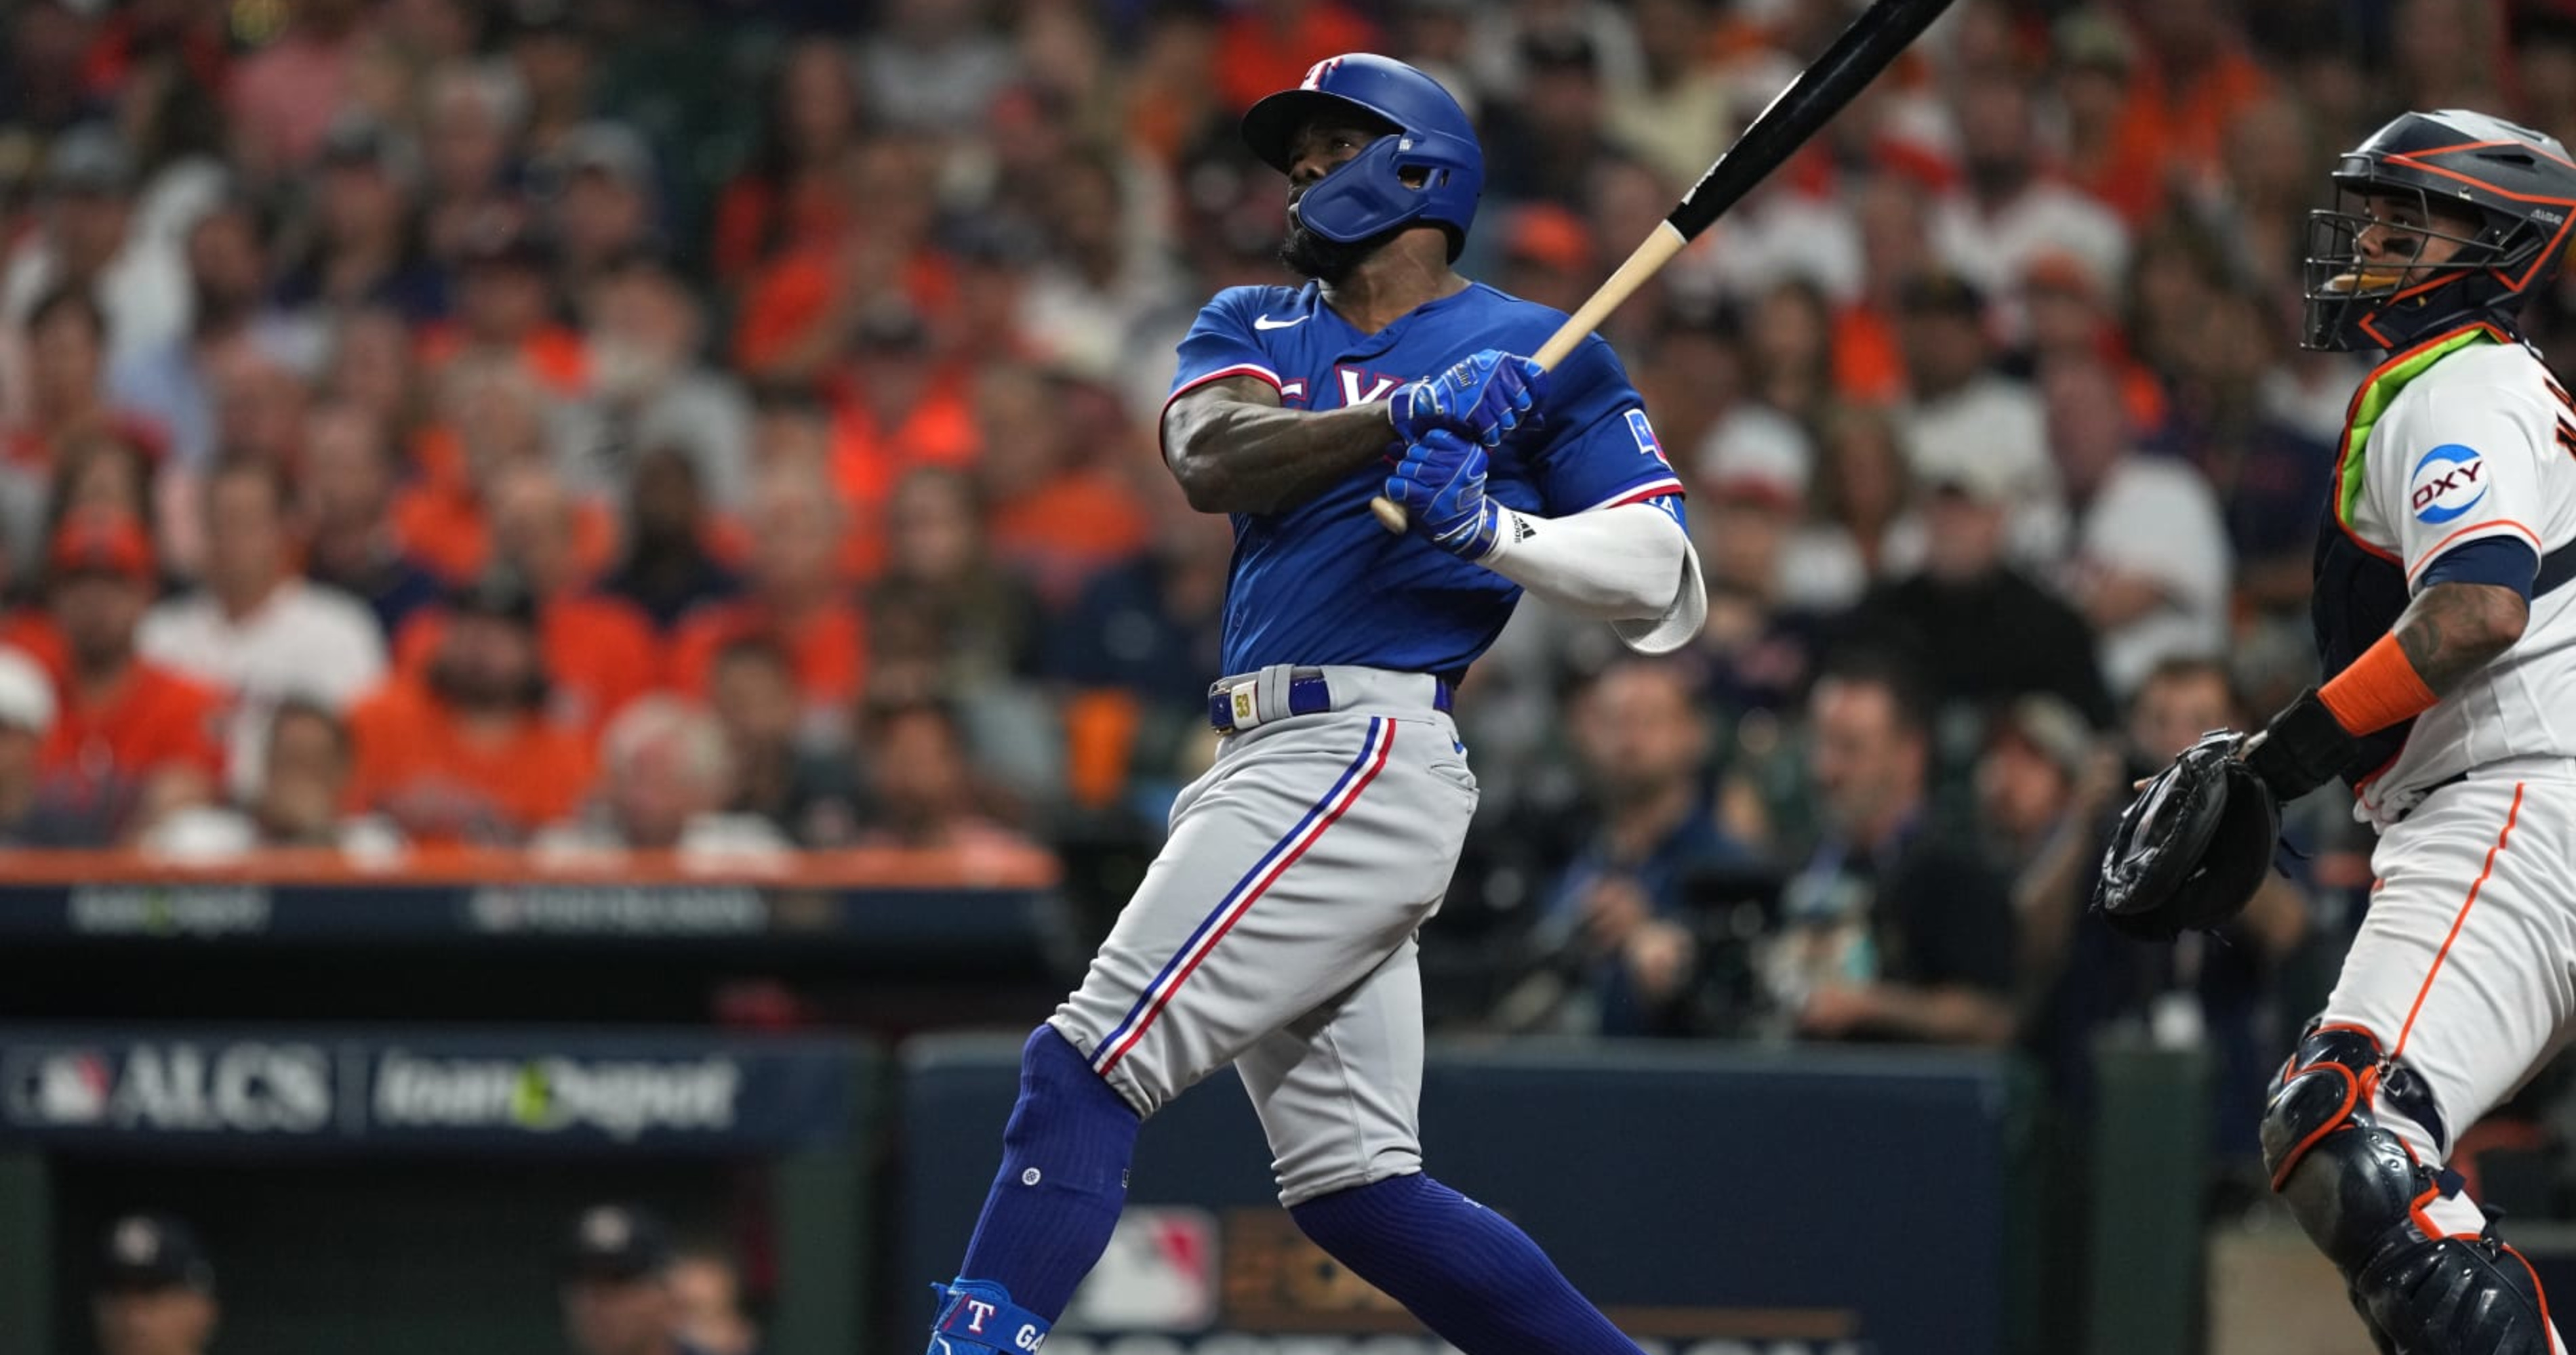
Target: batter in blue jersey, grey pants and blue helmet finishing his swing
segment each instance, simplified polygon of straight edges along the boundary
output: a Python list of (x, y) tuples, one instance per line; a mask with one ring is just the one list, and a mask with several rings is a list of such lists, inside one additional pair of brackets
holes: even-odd
[[(1636, 1355), (1502, 1216), (1422, 1175), (1422, 979), (1476, 809), (1450, 693), (1522, 590), (1646, 652), (1705, 613), (1682, 484), (1618, 358), (1535, 350), (1561, 312), (1450, 265), (1484, 155), (1386, 57), (1244, 113), (1288, 175), (1301, 289), (1216, 294), (1180, 343), (1164, 461), (1234, 518), (1216, 765), (1082, 987), (1023, 1054), (1002, 1170), (933, 1355), (1025, 1352), (1100, 1260), (1136, 1126), (1234, 1064), (1280, 1203), (1468, 1355)], [(1406, 510), (1404, 536), (1368, 513)]]

